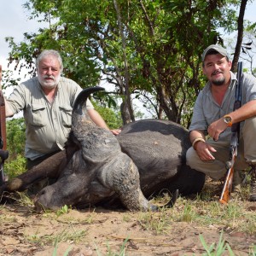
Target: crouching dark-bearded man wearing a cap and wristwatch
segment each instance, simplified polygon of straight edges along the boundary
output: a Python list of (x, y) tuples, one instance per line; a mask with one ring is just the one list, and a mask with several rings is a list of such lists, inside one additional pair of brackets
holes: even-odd
[(187, 164), (214, 180), (224, 177), (225, 163), (229, 160), (230, 126), (241, 122), (234, 185), (239, 188), (241, 171), (251, 166), (249, 201), (256, 201), (256, 79), (242, 74), (241, 108), (233, 111), (237, 79), (230, 71), (226, 49), (218, 44), (208, 46), (202, 54), (202, 68), (208, 82), (195, 101)]

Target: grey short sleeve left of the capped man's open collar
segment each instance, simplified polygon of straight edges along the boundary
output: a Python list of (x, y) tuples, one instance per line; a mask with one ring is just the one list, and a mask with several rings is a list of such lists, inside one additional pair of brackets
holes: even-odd
[(189, 125), (189, 131), (201, 130), (207, 131), (207, 119), (203, 112), (203, 92), (201, 91), (195, 101), (193, 109), (192, 121)]

